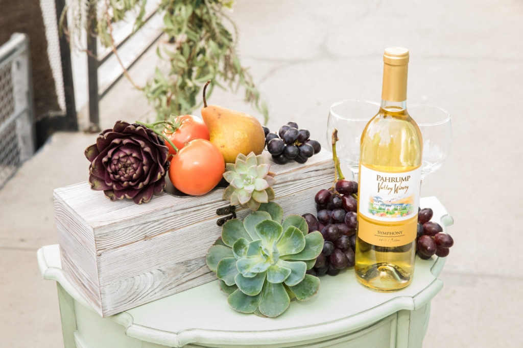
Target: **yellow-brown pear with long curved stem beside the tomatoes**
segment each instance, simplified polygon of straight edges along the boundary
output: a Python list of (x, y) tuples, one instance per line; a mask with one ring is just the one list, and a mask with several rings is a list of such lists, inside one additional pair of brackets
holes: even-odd
[(226, 163), (234, 163), (239, 153), (260, 154), (265, 148), (265, 133), (258, 120), (249, 114), (226, 109), (218, 105), (207, 105), (203, 87), (201, 117), (209, 129), (209, 140), (218, 147)]

